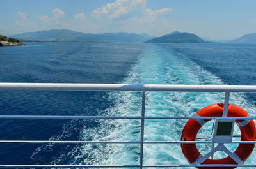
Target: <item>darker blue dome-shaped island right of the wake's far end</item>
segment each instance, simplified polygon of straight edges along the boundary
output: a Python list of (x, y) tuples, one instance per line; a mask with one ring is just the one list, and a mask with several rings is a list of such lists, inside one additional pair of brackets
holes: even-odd
[(211, 42), (204, 41), (192, 33), (181, 33), (179, 31), (175, 31), (170, 34), (166, 34), (164, 36), (145, 41), (145, 43), (211, 43)]

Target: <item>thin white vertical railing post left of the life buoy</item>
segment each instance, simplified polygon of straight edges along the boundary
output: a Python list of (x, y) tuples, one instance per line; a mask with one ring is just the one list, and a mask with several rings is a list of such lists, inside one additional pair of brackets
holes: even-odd
[(142, 106), (141, 106), (141, 129), (140, 129), (140, 169), (143, 168), (143, 142), (144, 142), (144, 121), (145, 121), (145, 91), (142, 92)]

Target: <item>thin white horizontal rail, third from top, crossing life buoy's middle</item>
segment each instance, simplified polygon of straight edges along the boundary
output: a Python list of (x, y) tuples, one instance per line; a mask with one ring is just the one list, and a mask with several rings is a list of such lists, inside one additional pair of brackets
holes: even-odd
[[(102, 143), (102, 144), (140, 144), (140, 141), (63, 141), (63, 140), (0, 140), (0, 143), (35, 143), (35, 144), (44, 144), (44, 143), (54, 143), (54, 144), (90, 144), (90, 143)], [(145, 141), (143, 144), (212, 144), (211, 141)], [(232, 144), (254, 144), (256, 141), (234, 141), (228, 142)]]

